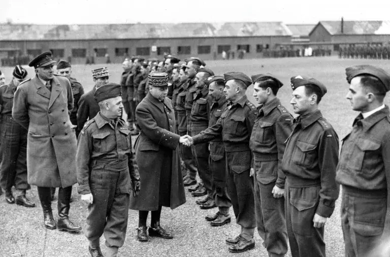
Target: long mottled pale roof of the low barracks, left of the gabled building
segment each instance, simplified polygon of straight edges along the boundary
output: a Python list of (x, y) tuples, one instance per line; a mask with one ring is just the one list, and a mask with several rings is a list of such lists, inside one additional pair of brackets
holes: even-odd
[(82, 40), (291, 36), (282, 22), (137, 23), (137, 24), (0, 24), (0, 40)]

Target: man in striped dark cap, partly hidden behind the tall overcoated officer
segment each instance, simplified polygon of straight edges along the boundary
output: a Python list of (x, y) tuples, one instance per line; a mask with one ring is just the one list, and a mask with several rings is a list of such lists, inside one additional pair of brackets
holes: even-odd
[(26, 78), (27, 71), (17, 65), (10, 84), (0, 87), (0, 184), (6, 191), (6, 201), (15, 203), (12, 186), (17, 191), (16, 204), (35, 207), (26, 198), (27, 183), (27, 130), (12, 119), (14, 94), (18, 85)]

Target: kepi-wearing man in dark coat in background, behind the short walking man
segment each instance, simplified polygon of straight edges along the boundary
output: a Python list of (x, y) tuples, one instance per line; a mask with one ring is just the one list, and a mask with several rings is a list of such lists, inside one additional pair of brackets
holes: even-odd
[(92, 78), (95, 85), (88, 93), (81, 95), (79, 110), (77, 111), (77, 127), (84, 127), (88, 119), (92, 119), (100, 111), (98, 103), (93, 98), (96, 89), (108, 83), (110, 74), (106, 67), (92, 70)]

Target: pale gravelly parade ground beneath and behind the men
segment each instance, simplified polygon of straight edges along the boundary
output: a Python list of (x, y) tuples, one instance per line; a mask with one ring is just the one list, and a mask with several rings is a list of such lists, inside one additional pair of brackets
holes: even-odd
[[(207, 61), (207, 67), (215, 74), (241, 71), (247, 75), (270, 72), (278, 76), (284, 83), (278, 96), (289, 111), (292, 111), (289, 105), (292, 92), (289, 78), (305, 75), (318, 79), (328, 88), (328, 93), (322, 98), (319, 108), (323, 116), (334, 126), (340, 140), (350, 130), (353, 119), (358, 115), (351, 110), (345, 99), (348, 90), (345, 68), (359, 64), (378, 65), (390, 71), (390, 61), (387, 60), (338, 59), (337, 57)], [(93, 87), (91, 70), (99, 67), (101, 66), (74, 66), (73, 77), (82, 83), (85, 91), (88, 91)], [(111, 74), (110, 81), (119, 82), (122, 73), (120, 64), (111, 64), (107, 67)], [(12, 68), (1, 68), (1, 70), (6, 74), (9, 82)], [(29, 76), (34, 74), (30, 68), (27, 71)], [(247, 94), (252, 94), (252, 87), (248, 88)], [(251, 97), (250, 99), (253, 100)], [(385, 102), (389, 104), (388, 97)], [(233, 210), (231, 210), (232, 223), (220, 228), (211, 228), (204, 216), (214, 213), (216, 209), (200, 210), (195, 203), (196, 199), (188, 192), (186, 194), (186, 204), (173, 211), (163, 208), (161, 215), (161, 224), (173, 232), (175, 236), (173, 240), (153, 238), (148, 243), (138, 242), (136, 239), (138, 212), (130, 210), (127, 236), (119, 256), (233, 256), (234, 254), (228, 252), (228, 246), (224, 243), (226, 237), (236, 236), (240, 232), (239, 226), (235, 223)], [(83, 233), (70, 234), (44, 229), (42, 208), (36, 187), (28, 195), (37, 204), (36, 208), (27, 209), (9, 205), (3, 196), (0, 197), (0, 256), (89, 256), (88, 242)], [(75, 201), (71, 204), (71, 220), (84, 226), (87, 205), (80, 201), (75, 187), (73, 198)], [(55, 217), (57, 216), (56, 204), (57, 201), (52, 204)], [(344, 255), (339, 209), (340, 200), (337, 201), (336, 210), (326, 226), (327, 255), (331, 257)], [(239, 255), (268, 256), (257, 234), (255, 240), (254, 250)], [(101, 245), (105, 252), (103, 238)]]

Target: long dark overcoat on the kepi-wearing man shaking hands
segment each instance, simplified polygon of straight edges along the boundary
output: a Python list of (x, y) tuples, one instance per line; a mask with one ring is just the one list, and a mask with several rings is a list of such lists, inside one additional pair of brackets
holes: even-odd
[(172, 101), (160, 102), (149, 92), (137, 106), (136, 119), (141, 128), (135, 144), (141, 191), (138, 197), (131, 196), (130, 208), (152, 211), (163, 205), (175, 209), (186, 200)]

